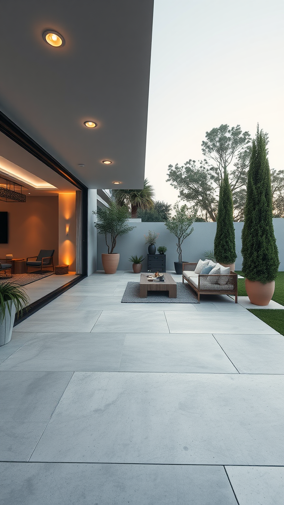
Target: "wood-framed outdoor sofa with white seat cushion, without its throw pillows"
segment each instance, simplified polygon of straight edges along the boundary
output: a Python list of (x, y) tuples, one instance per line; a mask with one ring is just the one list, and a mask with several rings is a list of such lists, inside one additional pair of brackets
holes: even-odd
[[(229, 274), (209, 276), (195, 273), (196, 267), (197, 263), (182, 263), (182, 282), (184, 283), (186, 280), (194, 289), (198, 301), (200, 301), (201, 294), (227, 294), (233, 295), (235, 303), (238, 303), (238, 274), (231, 271)], [(216, 284), (212, 284), (212, 277), (216, 278)]]

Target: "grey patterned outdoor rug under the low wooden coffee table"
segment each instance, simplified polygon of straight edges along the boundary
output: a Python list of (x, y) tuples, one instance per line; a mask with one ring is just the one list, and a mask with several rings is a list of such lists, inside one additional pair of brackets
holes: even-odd
[(147, 298), (139, 297), (139, 282), (127, 282), (122, 304), (199, 304), (190, 287), (176, 283), (176, 298), (169, 298), (168, 291), (148, 291)]

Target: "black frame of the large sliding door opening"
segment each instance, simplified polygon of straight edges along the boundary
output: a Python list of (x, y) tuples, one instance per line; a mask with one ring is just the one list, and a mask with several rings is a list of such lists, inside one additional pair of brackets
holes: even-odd
[(15, 324), (18, 324), (23, 319), (36, 312), (38, 309), (48, 304), (52, 299), (57, 298), (64, 291), (69, 289), (72, 285), (77, 284), (87, 275), (87, 209), (88, 209), (88, 188), (77, 177), (71, 174), (63, 165), (61, 165), (55, 158), (53, 158), (45, 149), (43, 149), (37, 142), (35, 142), (29, 135), (27, 135), (19, 126), (17, 126), (11, 119), (9, 119), (3, 112), (0, 111), (0, 131), (7, 137), (11, 138), (14, 142), (23, 147), (28, 153), (44, 163), (47, 167), (51, 168), (61, 177), (71, 182), (76, 188), (82, 191), (82, 275), (78, 276), (74, 281), (70, 281), (61, 288), (52, 291), (48, 295), (40, 298), (34, 304), (29, 306), (28, 314), (18, 318)]

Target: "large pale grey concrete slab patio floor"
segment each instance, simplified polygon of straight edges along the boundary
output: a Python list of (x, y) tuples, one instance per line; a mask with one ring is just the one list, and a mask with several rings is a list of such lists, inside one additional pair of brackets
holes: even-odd
[(283, 336), (223, 295), (121, 304), (138, 280), (93, 274), (0, 348), (3, 504), (282, 505)]

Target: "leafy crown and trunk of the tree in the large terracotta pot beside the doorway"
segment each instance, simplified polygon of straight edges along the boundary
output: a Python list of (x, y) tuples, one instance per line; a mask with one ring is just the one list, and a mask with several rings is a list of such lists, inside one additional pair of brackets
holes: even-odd
[[(99, 234), (105, 235), (108, 254), (113, 253), (118, 236), (125, 235), (136, 228), (136, 226), (126, 225), (129, 219), (129, 210), (126, 206), (119, 206), (115, 201), (111, 201), (109, 207), (99, 208), (98, 211), (92, 211), (92, 213), (97, 216), (94, 227), (97, 228)], [(108, 237), (109, 235), (110, 237)]]

